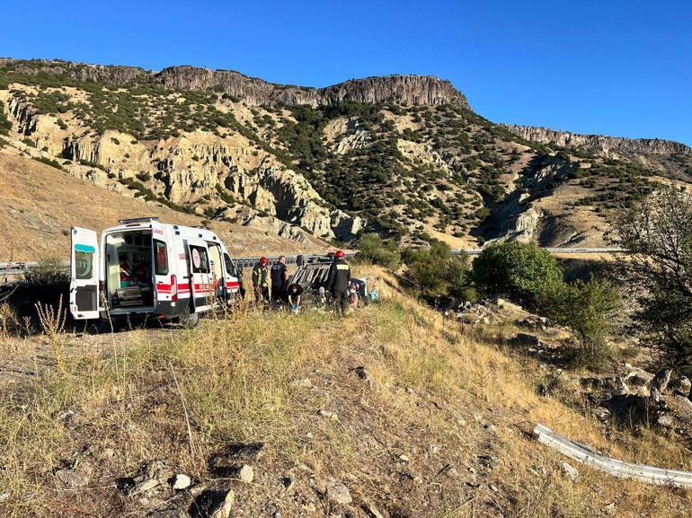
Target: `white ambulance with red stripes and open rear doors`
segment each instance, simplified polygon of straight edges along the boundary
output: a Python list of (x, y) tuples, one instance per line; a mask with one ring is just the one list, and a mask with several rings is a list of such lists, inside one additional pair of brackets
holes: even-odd
[(71, 236), (75, 320), (151, 316), (194, 323), (239, 289), (224, 243), (203, 228), (146, 217), (120, 220), (100, 240), (78, 227)]

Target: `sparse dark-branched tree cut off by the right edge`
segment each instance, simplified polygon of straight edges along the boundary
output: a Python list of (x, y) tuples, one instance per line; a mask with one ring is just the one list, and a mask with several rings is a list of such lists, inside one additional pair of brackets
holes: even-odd
[(618, 265), (637, 302), (634, 322), (672, 364), (692, 352), (692, 195), (656, 189), (616, 211), (611, 241), (628, 253)]

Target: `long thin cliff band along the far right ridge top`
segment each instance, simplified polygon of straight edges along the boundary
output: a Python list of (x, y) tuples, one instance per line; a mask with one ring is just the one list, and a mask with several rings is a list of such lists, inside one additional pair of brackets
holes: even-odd
[(581, 135), (569, 131), (556, 131), (546, 127), (502, 125), (512, 133), (538, 144), (562, 147), (581, 147), (591, 152), (608, 154), (692, 154), (684, 144), (660, 138), (623, 138), (619, 136)]

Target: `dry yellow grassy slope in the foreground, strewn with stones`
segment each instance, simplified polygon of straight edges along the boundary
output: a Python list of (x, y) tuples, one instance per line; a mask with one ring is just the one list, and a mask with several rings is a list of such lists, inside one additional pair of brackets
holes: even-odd
[[(617, 516), (688, 509), (686, 493), (585, 467), (580, 481), (564, 478), (563, 459), (523, 433), (537, 421), (619, 458), (688, 470), (692, 461), (645, 430), (608, 440), (590, 418), (537, 397), (537, 365), (508, 356), (492, 332), (462, 332), (388, 292), (346, 320), (238, 312), (155, 340), (116, 335), (119, 342), (134, 336), (117, 357), (67, 356), (65, 372), (49, 371), (1, 396), (0, 493), (9, 498), (0, 514), (143, 515), (141, 501), (112, 487), (116, 478), (159, 459), (173, 472), (208, 480), (210, 454), (254, 441), (267, 452), (253, 461), (253, 484), (216, 482), (234, 487), (235, 507), (248, 516), (337, 512), (318, 494), (329, 477), (350, 487), (354, 506), (368, 499), (390, 518), (598, 516), (611, 503)], [(373, 388), (352, 372), (360, 365)], [(190, 411), (192, 447), (173, 371)], [(319, 409), (337, 418), (320, 417)], [(58, 417), (67, 410), (74, 415)], [(66, 491), (52, 471), (75, 459), (92, 465), (93, 477), (89, 488)], [(458, 477), (440, 473), (448, 465)], [(288, 490), (285, 476), (295, 482)], [(166, 502), (173, 494), (158, 497)], [(170, 504), (187, 508), (191, 497)]]

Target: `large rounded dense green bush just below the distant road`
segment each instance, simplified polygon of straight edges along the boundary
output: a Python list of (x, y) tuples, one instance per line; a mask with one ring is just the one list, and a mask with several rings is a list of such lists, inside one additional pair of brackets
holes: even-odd
[(563, 271), (546, 250), (532, 243), (497, 243), (474, 259), (475, 284), (486, 294), (503, 295), (537, 308), (563, 284)]

